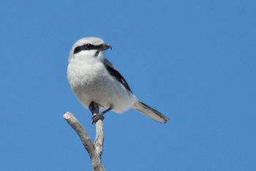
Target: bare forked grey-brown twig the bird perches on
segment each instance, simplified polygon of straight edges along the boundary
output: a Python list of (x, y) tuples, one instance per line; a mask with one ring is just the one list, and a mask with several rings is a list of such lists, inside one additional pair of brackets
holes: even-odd
[[(97, 111), (99, 113), (99, 111)], [(75, 118), (72, 113), (65, 113), (63, 115), (64, 119), (66, 119), (67, 123), (77, 132), (80, 140), (83, 143), (83, 146), (86, 148), (86, 151), (89, 153), (91, 158), (91, 164), (94, 171), (105, 171), (105, 168), (102, 165), (101, 156), (102, 156), (102, 148), (104, 142), (104, 134), (103, 134), (103, 126), (102, 120), (97, 121), (96, 123), (96, 137), (94, 144), (91, 141), (91, 138), (87, 134), (86, 130), (83, 128), (81, 123)]]

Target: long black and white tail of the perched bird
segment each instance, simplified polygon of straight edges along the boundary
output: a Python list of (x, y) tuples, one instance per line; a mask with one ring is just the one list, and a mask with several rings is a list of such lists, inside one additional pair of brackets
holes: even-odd
[(158, 121), (160, 123), (166, 123), (169, 120), (167, 116), (159, 113), (157, 110), (152, 109), (151, 107), (140, 101), (135, 102), (132, 108), (138, 110), (140, 113), (143, 113), (154, 121)]

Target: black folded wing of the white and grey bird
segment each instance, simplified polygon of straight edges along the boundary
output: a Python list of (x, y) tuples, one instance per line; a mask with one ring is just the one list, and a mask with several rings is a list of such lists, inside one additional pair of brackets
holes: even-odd
[(113, 66), (113, 64), (111, 64), (108, 59), (104, 59), (104, 64), (106, 66), (106, 69), (108, 70), (108, 73), (116, 80), (118, 80), (118, 82), (121, 83), (125, 88), (127, 88), (127, 90), (132, 92), (131, 88), (129, 88), (127, 81), (124, 80), (124, 77), (121, 76), (121, 74), (116, 70), (115, 66)]

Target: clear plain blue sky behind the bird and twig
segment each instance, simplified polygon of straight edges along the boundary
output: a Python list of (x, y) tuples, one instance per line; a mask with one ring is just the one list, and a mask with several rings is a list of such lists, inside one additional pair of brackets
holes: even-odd
[(105, 115), (107, 170), (256, 170), (255, 1), (1, 1), (0, 170), (91, 170), (64, 121), (94, 139), (67, 83), (82, 37), (138, 98), (170, 118)]

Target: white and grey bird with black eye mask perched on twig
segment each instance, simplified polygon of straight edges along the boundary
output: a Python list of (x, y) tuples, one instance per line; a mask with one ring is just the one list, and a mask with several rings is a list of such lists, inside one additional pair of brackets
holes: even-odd
[[(148, 116), (159, 123), (169, 118), (140, 100), (132, 93), (124, 77), (104, 58), (104, 51), (112, 47), (99, 37), (78, 39), (69, 53), (67, 80), (75, 96), (92, 115), (92, 123), (104, 119), (108, 111), (124, 113), (129, 109)], [(95, 111), (102, 111), (95, 113)]]

